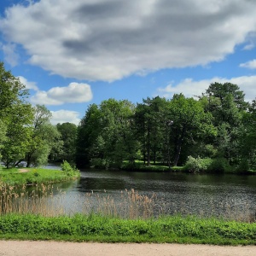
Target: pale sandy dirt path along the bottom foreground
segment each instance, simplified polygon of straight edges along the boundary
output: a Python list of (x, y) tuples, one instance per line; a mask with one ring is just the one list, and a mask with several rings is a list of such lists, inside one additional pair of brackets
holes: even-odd
[(256, 246), (0, 241), (1, 256), (255, 256)]

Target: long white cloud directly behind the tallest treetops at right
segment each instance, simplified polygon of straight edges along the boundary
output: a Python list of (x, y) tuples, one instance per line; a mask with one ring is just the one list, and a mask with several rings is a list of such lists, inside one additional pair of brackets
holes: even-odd
[(248, 102), (251, 102), (256, 97), (256, 76), (242, 76), (232, 79), (212, 78), (198, 81), (184, 79), (178, 84), (172, 83), (168, 84), (165, 88), (158, 88), (156, 94), (166, 98), (179, 93), (183, 93), (183, 95), (187, 97), (201, 96), (201, 94), (207, 90), (209, 85), (214, 82), (237, 84), (240, 87), (240, 90), (245, 93), (245, 99)]

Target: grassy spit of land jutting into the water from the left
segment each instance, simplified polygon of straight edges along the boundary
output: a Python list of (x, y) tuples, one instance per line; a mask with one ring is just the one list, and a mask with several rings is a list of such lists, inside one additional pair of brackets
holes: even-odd
[(9, 185), (27, 185), (38, 183), (59, 183), (79, 177), (79, 172), (72, 174), (60, 170), (42, 168), (22, 168), (27, 172), (20, 172), (17, 168), (3, 169), (0, 171), (0, 181)]

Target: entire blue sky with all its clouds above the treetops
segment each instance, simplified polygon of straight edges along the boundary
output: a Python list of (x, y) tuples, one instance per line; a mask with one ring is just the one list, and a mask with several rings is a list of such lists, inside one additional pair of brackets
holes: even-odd
[(54, 125), (109, 98), (199, 96), (214, 82), (251, 102), (256, 1), (1, 0), (0, 61)]

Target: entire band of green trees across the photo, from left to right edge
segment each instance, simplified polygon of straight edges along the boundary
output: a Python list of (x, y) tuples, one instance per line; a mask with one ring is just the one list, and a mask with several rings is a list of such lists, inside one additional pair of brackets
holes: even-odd
[(175, 94), (133, 104), (108, 99), (91, 104), (79, 126), (51, 125), (45, 106), (32, 106), (24, 84), (0, 62), (0, 159), (4, 165), (40, 166), (48, 160), (79, 167), (183, 166), (216, 160), (255, 168), (256, 100), (236, 84), (212, 83), (195, 98)]

